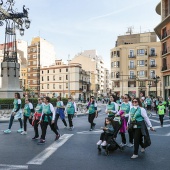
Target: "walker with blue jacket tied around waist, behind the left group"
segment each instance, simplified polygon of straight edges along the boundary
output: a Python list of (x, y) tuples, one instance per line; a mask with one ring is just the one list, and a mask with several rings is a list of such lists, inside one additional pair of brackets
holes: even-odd
[(55, 116), (55, 124), (56, 124), (56, 128), (57, 130), (59, 130), (57, 122), (58, 122), (58, 118), (60, 117), (62, 122), (64, 123), (65, 128), (67, 128), (67, 123), (65, 120), (65, 114), (64, 114), (64, 104), (63, 101), (61, 101), (61, 97), (58, 96), (57, 97), (57, 103), (56, 103), (56, 116)]

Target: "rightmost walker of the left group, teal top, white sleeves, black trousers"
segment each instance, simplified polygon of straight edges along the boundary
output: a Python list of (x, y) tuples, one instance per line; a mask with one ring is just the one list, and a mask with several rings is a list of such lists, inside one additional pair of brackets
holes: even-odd
[(73, 117), (74, 117), (74, 114), (77, 112), (77, 107), (76, 107), (76, 103), (72, 100), (71, 97), (68, 98), (65, 111), (68, 115), (68, 122), (69, 122), (69, 127), (70, 127), (69, 130), (73, 130), (74, 128)]

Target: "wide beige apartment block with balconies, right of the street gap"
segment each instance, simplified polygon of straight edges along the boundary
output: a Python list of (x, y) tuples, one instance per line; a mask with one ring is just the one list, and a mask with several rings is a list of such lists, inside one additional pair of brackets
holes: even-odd
[[(118, 36), (116, 47), (111, 49), (112, 91), (117, 94), (139, 96), (162, 95), (161, 44), (154, 32)], [(157, 91), (157, 93), (156, 93)]]

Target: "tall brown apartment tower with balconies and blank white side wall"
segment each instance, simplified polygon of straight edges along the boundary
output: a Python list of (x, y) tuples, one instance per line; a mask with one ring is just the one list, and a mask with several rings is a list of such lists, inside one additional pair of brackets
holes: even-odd
[(28, 46), (28, 88), (36, 96), (40, 95), (40, 66), (55, 63), (56, 53), (51, 43), (43, 38), (35, 37)]

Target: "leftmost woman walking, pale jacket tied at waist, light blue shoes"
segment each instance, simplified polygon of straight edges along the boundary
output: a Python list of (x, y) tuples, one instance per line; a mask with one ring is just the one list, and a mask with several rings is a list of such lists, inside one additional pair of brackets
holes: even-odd
[(4, 130), (5, 134), (11, 133), (11, 127), (15, 119), (18, 119), (20, 123), (20, 129), (17, 130), (18, 133), (21, 133), (23, 131), (22, 128), (22, 110), (21, 110), (21, 97), (19, 93), (15, 93), (15, 99), (14, 99), (14, 108), (12, 109), (10, 121), (9, 121), (9, 126), (7, 130)]

